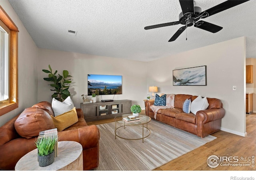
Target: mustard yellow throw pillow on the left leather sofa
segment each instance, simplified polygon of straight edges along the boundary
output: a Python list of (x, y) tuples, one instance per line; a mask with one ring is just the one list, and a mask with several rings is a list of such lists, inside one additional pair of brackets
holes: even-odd
[(62, 131), (68, 128), (69, 126), (75, 124), (76, 122), (78, 122), (76, 107), (74, 107), (72, 110), (68, 112), (65, 112), (55, 117), (51, 115), (51, 117), (58, 131)]

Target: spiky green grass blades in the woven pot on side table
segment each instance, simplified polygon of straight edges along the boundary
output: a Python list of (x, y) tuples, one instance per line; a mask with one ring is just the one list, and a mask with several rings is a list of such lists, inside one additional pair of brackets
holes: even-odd
[(38, 148), (39, 156), (46, 156), (54, 151), (55, 144), (58, 143), (57, 138), (36, 138), (35, 145)]

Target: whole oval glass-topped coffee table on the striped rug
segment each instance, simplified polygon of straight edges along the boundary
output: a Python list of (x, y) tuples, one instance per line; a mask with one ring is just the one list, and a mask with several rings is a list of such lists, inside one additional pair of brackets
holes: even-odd
[[(132, 114), (122, 114), (121, 116), (116, 116), (115, 120), (115, 139), (116, 136), (126, 140), (140, 140), (144, 142), (144, 138), (150, 135), (150, 129), (148, 128), (148, 123), (151, 121), (151, 118), (146, 115), (140, 115), (139, 120), (131, 120), (126, 122), (123, 118), (127, 118)], [(139, 128), (138, 126), (142, 127)], [(127, 130), (130, 128), (130, 130)], [(145, 130), (146, 132), (145, 132)], [(128, 136), (126, 136), (128, 134)], [(132, 137), (131, 137), (132, 136)]]

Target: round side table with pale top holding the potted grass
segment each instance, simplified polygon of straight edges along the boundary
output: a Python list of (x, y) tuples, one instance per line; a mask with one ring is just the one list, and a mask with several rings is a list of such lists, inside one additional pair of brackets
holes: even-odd
[(28, 152), (17, 162), (15, 170), (19, 171), (55, 171), (83, 170), (82, 145), (75, 141), (59, 141), (58, 155), (49, 166), (38, 164), (37, 148)]

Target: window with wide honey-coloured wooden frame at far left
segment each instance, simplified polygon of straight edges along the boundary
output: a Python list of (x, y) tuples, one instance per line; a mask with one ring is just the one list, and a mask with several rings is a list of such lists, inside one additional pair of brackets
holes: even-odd
[(0, 116), (18, 108), (18, 32), (0, 6)]

